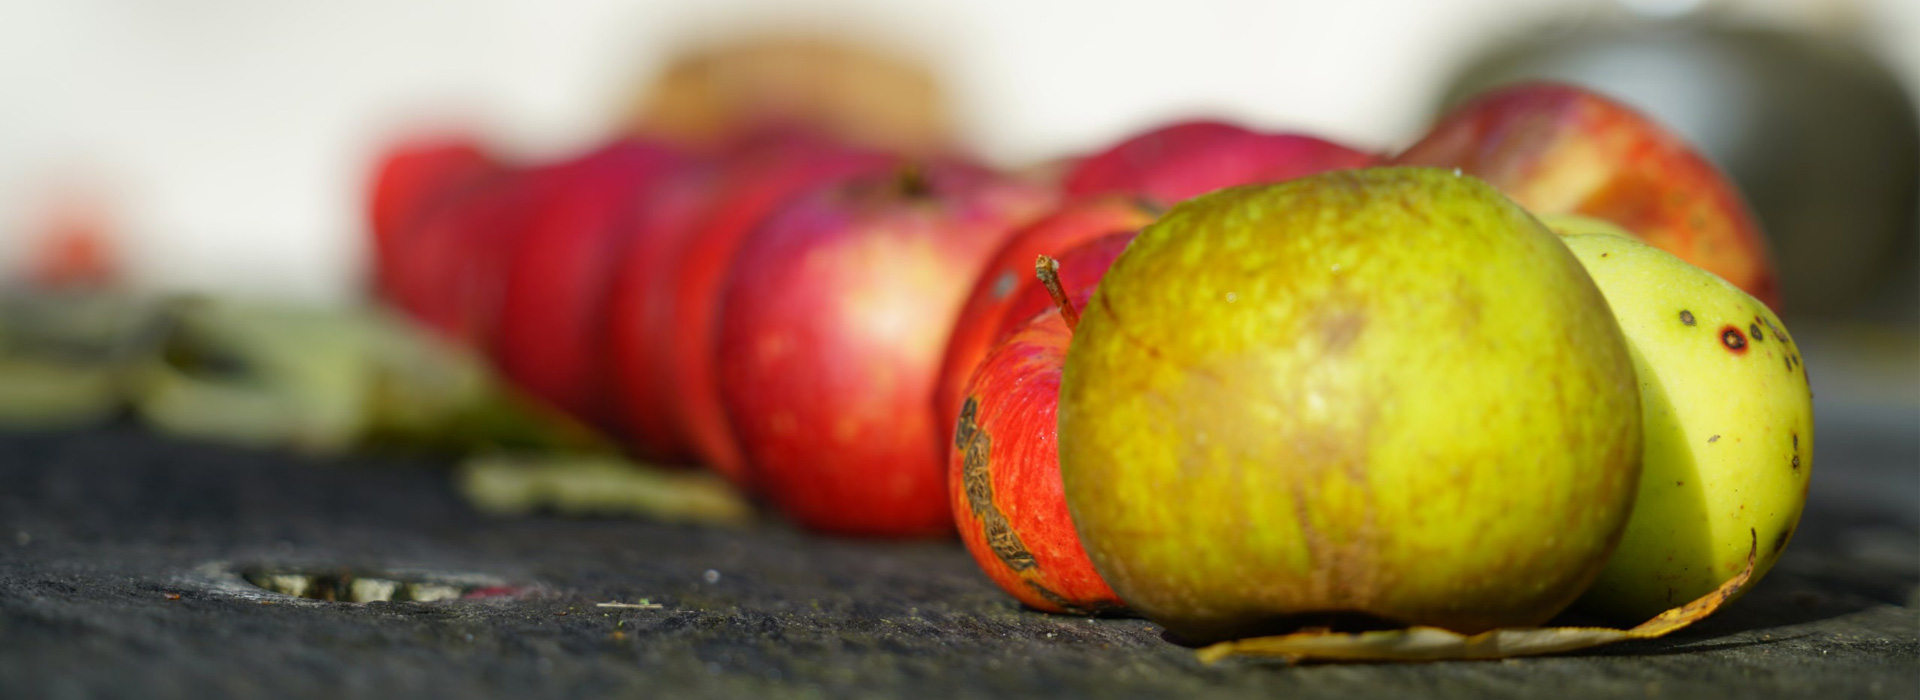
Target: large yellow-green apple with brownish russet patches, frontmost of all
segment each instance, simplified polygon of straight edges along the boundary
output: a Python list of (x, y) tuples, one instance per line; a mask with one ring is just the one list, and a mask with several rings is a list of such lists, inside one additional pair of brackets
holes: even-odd
[(1060, 470), (1100, 575), (1192, 642), (1538, 625), (1626, 525), (1634, 382), (1580, 263), (1494, 188), (1329, 173), (1121, 253), (1068, 349)]

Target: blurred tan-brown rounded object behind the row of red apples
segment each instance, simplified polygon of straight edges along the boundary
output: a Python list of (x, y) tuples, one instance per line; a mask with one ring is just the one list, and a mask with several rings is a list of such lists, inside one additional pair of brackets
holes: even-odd
[(751, 36), (680, 52), (637, 98), (634, 130), (720, 146), (768, 128), (820, 128), (904, 153), (943, 150), (947, 104), (924, 61), (845, 38)]

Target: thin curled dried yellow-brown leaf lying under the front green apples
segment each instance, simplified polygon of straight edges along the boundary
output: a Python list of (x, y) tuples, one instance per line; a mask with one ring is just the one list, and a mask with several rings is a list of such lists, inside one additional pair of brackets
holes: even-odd
[(1732, 600), (1753, 577), (1759, 535), (1747, 548), (1747, 568), (1713, 593), (1667, 610), (1632, 629), (1611, 627), (1524, 627), (1461, 635), (1438, 627), (1407, 627), (1369, 633), (1304, 631), (1281, 637), (1254, 637), (1202, 648), (1200, 662), (1215, 664), (1233, 656), (1283, 658), (1288, 662), (1452, 662), (1513, 656), (1559, 654), (1630, 639), (1665, 637), (1711, 616)]

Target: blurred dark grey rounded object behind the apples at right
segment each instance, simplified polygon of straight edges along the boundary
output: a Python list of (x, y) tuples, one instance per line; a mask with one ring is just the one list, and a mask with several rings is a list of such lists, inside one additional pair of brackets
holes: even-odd
[(1788, 316), (1912, 322), (1920, 311), (1920, 121), (1859, 40), (1707, 12), (1596, 15), (1480, 54), (1440, 109), (1538, 79), (1613, 94), (1716, 161), (1772, 240)]

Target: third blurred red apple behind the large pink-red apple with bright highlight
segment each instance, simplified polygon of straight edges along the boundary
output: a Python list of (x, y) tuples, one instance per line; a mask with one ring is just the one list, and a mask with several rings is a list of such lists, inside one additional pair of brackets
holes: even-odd
[(493, 361), (530, 395), (576, 418), (609, 424), (599, 347), (609, 282), (634, 230), (636, 207), (687, 155), (622, 140), (566, 165), (566, 186), (513, 236)]

